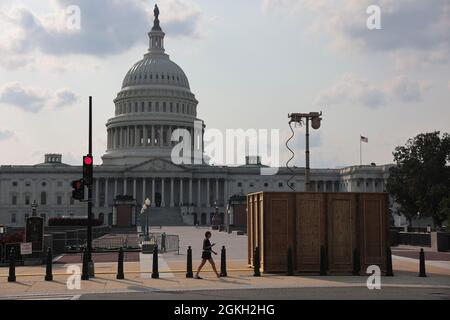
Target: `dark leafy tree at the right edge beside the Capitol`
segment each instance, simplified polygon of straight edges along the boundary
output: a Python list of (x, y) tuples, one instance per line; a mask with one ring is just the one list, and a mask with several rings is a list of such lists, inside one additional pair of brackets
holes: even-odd
[(390, 169), (386, 189), (399, 205), (397, 213), (411, 222), (420, 212), (442, 226), (449, 218), (450, 135), (419, 134), (393, 155), (396, 166)]

